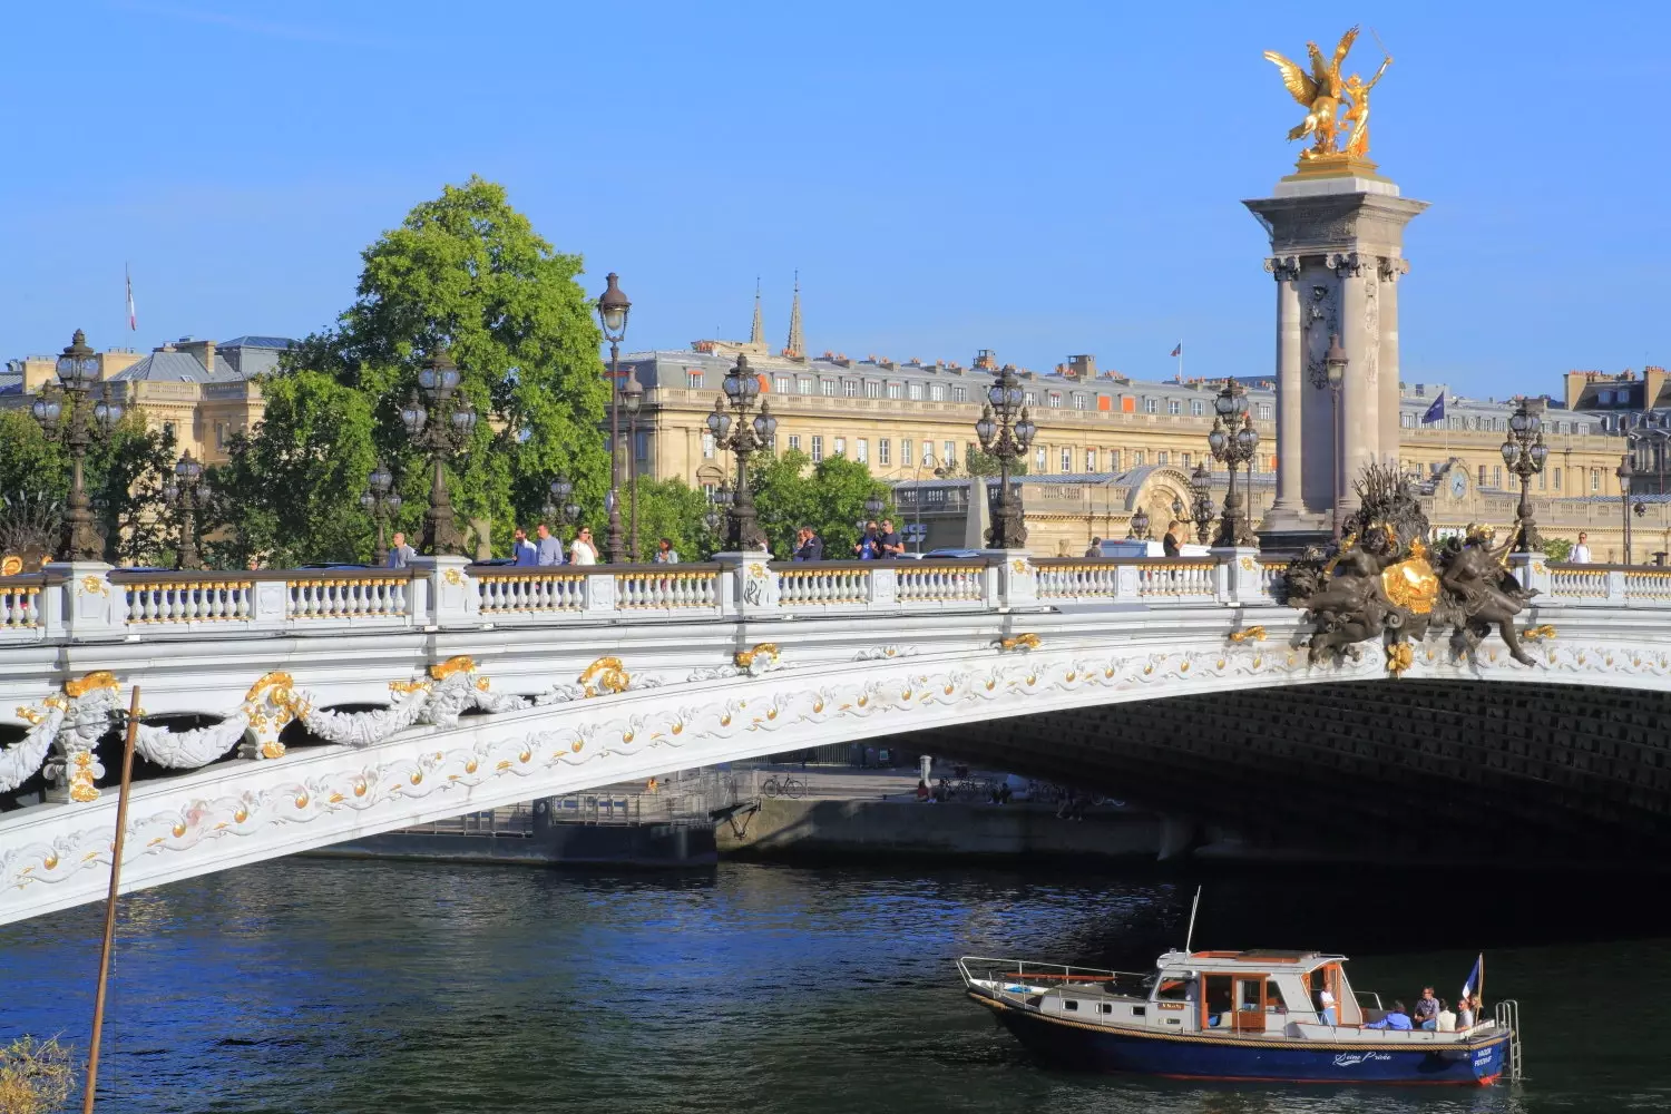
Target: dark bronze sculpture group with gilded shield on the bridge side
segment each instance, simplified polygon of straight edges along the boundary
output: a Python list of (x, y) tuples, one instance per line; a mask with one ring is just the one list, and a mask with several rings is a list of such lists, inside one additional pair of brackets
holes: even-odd
[(1469, 526), (1464, 538), (1447, 538), (1430, 551), (1427, 516), (1397, 468), (1370, 464), (1354, 488), (1359, 509), (1345, 524), (1347, 536), (1332, 553), (1310, 549), (1282, 580), (1287, 601), (1305, 608), (1312, 621), (1312, 665), (1342, 655), (1357, 660), (1357, 643), (1380, 638), (1387, 668), (1397, 675), (1414, 656), (1394, 648), (1445, 626), (1454, 658), (1475, 658), (1496, 628), (1511, 656), (1532, 665), (1514, 616), (1537, 591), (1504, 568), (1507, 544), (1494, 548), (1491, 528)]

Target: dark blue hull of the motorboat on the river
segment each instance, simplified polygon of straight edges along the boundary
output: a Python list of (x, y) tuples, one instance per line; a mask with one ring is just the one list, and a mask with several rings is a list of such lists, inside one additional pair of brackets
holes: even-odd
[(1215, 1036), (1141, 1036), (1058, 1020), (971, 994), (1041, 1059), (1064, 1067), (1173, 1079), (1487, 1086), (1502, 1074), (1509, 1036), (1427, 1047), (1364, 1047)]

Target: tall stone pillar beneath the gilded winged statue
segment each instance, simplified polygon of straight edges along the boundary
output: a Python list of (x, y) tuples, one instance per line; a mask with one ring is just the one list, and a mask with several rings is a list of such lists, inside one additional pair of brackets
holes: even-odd
[[(1404, 225), (1427, 202), (1354, 164), (1302, 165), (1272, 197), (1243, 204), (1270, 235), (1267, 271), (1292, 261), (1297, 276), (1278, 282), (1293, 297), (1277, 302), (1278, 504), (1265, 519), (1267, 544), (1293, 548), (1328, 536), (1365, 464), (1399, 456), (1399, 302), (1387, 272), (1407, 267)], [(1338, 424), (1325, 361), (1337, 334), (1347, 352)], [(1298, 508), (1287, 511), (1295, 483)]]

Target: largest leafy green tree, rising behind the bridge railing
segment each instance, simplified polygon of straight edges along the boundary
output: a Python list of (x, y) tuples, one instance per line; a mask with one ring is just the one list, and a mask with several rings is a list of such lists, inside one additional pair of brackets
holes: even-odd
[[(276, 560), (366, 556), (373, 526), (359, 496), (376, 459), (401, 478), (408, 533), (421, 524), (428, 468), (399, 408), (439, 342), (480, 418), (448, 473), (460, 518), (490, 521), (498, 549), (508, 551), (511, 528), (540, 514), (548, 483), (565, 473), (588, 521), (600, 521), (608, 451), (598, 431), (608, 384), (592, 306), (576, 282), (580, 257), (535, 234), (501, 185), (471, 177), (414, 207), (361, 259), (356, 301), (338, 327), (297, 344), (266, 386), (269, 418), (249, 438), (242, 471), (229, 478), (249, 498), (234, 524), (252, 539), (239, 544), (267, 548)], [(309, 382), (307, 406), (276, 418), (272, 391), (301, 372), (341, 392), (328, 396)], [(339, 441), (314, 403), (346, 404), (349, 396), (358, 399), (354, 436)], [(366, 438), (361, 413), (369, 416)], [(292, 476), (323, 483), (304, 489), (291, 486)], [(302, 509), (287, 508), (297, 498)]]

